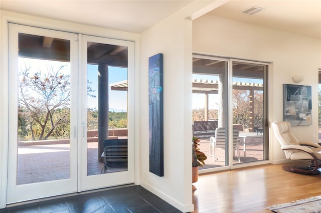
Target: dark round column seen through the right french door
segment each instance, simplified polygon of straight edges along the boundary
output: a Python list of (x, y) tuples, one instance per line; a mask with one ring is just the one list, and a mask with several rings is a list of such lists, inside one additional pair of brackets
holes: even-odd
[(108, 139), (108, 66), (98, 65), (98, 161), (103, 152), (102, 142)]

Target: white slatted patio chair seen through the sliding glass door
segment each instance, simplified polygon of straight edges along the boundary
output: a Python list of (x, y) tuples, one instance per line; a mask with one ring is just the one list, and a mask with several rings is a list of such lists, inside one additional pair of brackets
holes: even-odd
[[(227, 135), (225, 135), (225, 128), (216, 128), (215, 137), (210, 137), (210, 156), (213, 156), (214, 161), (218, 160), (215, 157), (215, 149), (225, 149), (227, 145)], [(233, 156), (235, 156), (235, 150), (237, 153), (237, 159), (241, 162), (240, 158), (240, 148), (239, 148), (239, 130), (233, 128)]]

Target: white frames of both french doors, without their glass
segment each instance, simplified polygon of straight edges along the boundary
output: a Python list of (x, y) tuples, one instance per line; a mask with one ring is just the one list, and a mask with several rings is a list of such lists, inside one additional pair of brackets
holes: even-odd
[[(121, 184), (128, 184), (134, 182), (134, 42), (124, 41), (124, 40), (115, 40), (115, 39), (106, 39), (101, 37), (94, 36), (82, 36), (79, 35), (80, 41), (77, 45), (78, 35), (73, 33), (47, 30), (41, 28), (28, 27), (23, 25), (9, 24), (10, 34), (15, 34), (18, 38), (18, 33), (27, 33), (27, 34), (36, 34), (41, 36), (56, 37), (55, 34), (58, 33), (58, 38), (66, 38), (71, 41), (71, 62), (74, 61), (72, 67), (72, 73), (74, 75), (71, 78), (73, 85), (83, 85), (87, 83), (86, 79), (83, 76), (87, 76), (86, 65), (84, 62), (87, 61), (87, 41), (82, 43), (82, 38), (90, 39), (90, 41), (107, 43), (112, 45), (121, 45), (128, 47), (128, 170), (122, 172), (108, 173), (108, 174), (99, 174), (87, 176), (87, 131), (84, 132), (84, 124), (86, 123), (87, 118), (87, 105), (86, 105), (86, 96), (87, 90), (86, 87), (80, 86), (79, 89), (77, 86), (71, 87), (72, 94), (74, 97), (71, 98), (71, 106), (73, 106), (73, 112), (71, 112), (71, 138), (70, 138), (70, 178), (64, 180), (55, 180), (49, 182), (39, 182), (32, 184), (16, 185), (16, 178), (8, 178), (8, 189), (6, 196), (6, 203), (14, 203), (19, 201), (25, 201), (35, 198), (42, 198), (48, 196), (54, 196), (59, 194), (66, 194), (72, 192), (80, 192), (85, 190), (97, 189), (102, 187), (109, 187)], [(39, 32), (38, 32), (39, 31)], [(66, 37), (67, 36), (67, 37)], [(10, 39), (16, 39), (16, 46), (13, 47), (13, 50), (18, 50), (18, 39), (15, 37), (10, 37)], [(79, 49), (79, 50), (78, 50)], [(78, 54), (81, 52), (86, 54), (81, 54), (82, 60), (77, 62)], [(83, 58), (84, 57), (84, 58)], [(18, 51), (11, 51), (9, 55), (11, 70), (18, 70)], [(85, 60), (84, 60), (85, 59)], [(16, 66), (16, 67), (15, 67)], [(83, 68), (83, 69), (82, 69)], [(12, 75), (13, 72), (10, 72)], [(18, 79), (18, 74), (16, 76), (10, 77), (10, 79)], [(71, 74), (72, 76), (72, 74)], [(78, 82), (77, 82), (78, 80)], [(12, 80), (14, 81), (14, 80)], [(9, 91), (18, 94), (18, 86), (16, 84), (10, 83)], [(18, 98), (16, 96), (10, 96), (9, 102), (11, 105), (17, 103)], [(75, 107), (77, 106), (78, 107)], [(85, 106), (85, 107), (84, 107)], [(79, 114), (77, 113), (79, 112)], [(9, 108), (9, 135), (17, 135), (17, 130), (14, 126), (17, 126), (18, 118), (16, 118), (18, 109), (10, 107)], [(79, 118), (79, 119), (78, 119)], [(13, 128), (12, 128), (13, 127)], [(73, 128), (75, 127), (75, 128)], [(75, 131), (75, 132), (73, 132)], [(14, 153), (17, 151), (17, 136), (11, 137), (8, 147), (9, 153)], [(74, 150), (74, 151), (73, 151)], [(79, 156), (77, 158), (77, 156)], [(80, 157), (82, 156), (82, 157)], [(16, 177), (17, 169), (12, 169), (17, 165), (17, 155), (8, 155), (8, 177)], [(78, 162), (78, 163), (77, 163)], [(108, 178), (108, 181), (106, 179)], [(61, 185), (62, 184), (62, 185)], [(35, 190), (38, 188), (39, 190)], [(32, 192), (32, 193), (31, 193)], [(17, 196), (18, 194), (18, 196)]]

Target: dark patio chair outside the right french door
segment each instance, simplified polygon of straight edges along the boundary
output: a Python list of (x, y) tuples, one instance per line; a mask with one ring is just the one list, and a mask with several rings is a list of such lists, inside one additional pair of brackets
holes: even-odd
[(127, 139), (106, 139), (103, 141), (103, 147), (104, 172), (106, 172), (107, 168), (127, 168)]

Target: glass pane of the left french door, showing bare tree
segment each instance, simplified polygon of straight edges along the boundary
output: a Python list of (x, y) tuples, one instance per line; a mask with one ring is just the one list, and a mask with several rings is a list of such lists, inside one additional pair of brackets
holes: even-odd
[(70, 41), (19, 33), (17, 185), (70, 178)]

